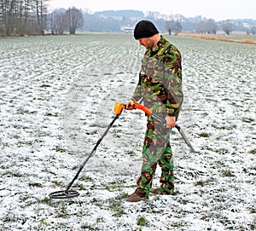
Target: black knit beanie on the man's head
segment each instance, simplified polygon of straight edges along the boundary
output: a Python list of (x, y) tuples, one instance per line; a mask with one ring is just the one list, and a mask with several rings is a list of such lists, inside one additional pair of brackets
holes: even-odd
[(149, 38), (158, 34), (158, 30), (154, 26), (154, 24), (149, 20), (141, 20), (137, 23), (134, 29), (134, 38)]

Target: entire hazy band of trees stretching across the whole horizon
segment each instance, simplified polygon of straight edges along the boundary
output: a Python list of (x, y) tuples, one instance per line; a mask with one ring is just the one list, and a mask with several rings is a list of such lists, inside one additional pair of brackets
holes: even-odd
[[(86, 32), (121, 32), (123, 26), (134, 26), (135, 19), (153, 20), (162, 32), (196, 32), (216, 34), (221, 28), (227, 35), (236, 30), (232, 20), (216, 22), (201, 16), (186, 19), (181, 14), (160, 14), (137, 10), (103, 11), (88, 14), (80, 9), (55, 9), (48, 12), (50, 0), (0, 0), (0, 35), (44, 35), (75, 34), (77, 30)], [(133, 20), (132, 20), (133, 19)], [(195, 21), (194, 21), (195, 20)], [(256, 22), (255, 22), (256, 24)], [(248, 26), (247, 34), (256, 33), (256, 26)]]

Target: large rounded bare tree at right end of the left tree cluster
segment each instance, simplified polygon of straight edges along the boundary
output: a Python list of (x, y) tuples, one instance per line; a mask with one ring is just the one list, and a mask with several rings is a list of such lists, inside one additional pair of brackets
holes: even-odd
[(67, 23), (69, 27), (69, 33), (75, 34), (76, 30), (84, 26), (84, 17), (79, 9), (69, 8), (67, 9)]

